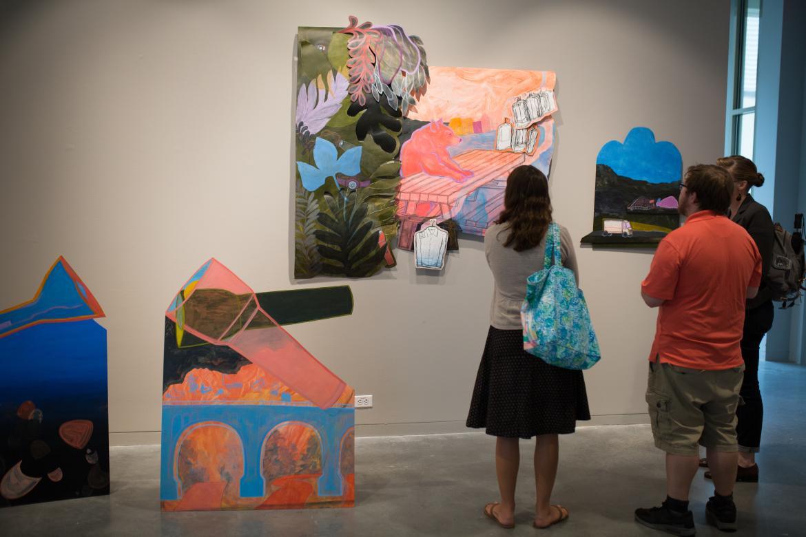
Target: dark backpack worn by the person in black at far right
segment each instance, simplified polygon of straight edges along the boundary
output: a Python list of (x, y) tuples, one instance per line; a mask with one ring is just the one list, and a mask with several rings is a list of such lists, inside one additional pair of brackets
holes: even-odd
[(767, 286), (772, 299), (781, 302), (781, 308), (795, 305), (804, 287), (804, 215), (795, 215), (795, 233), (789, 233), (775, 222), (775, 242), (772, 246), (772, 264), (767, 275)]

